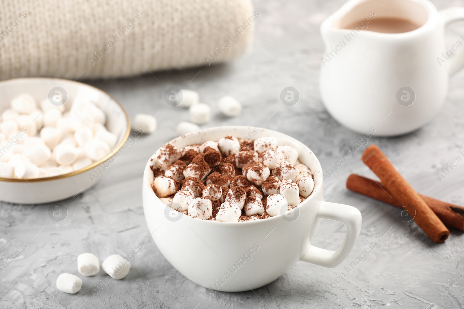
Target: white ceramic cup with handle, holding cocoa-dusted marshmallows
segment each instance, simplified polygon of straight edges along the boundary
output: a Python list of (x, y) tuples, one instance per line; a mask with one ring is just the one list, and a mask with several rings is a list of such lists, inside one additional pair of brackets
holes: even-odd
[[(233, 135), (257, 139), (273, 136), (290, 145), (314, 173), (313, 193), (282, 215), (248, 222), (194, 219), (166, 206), (151, 189), (152, 156), (145, 166), (143, 209), (151, 237), (166, 259), (188, 279), (209, 289), (228, 292), (252, 290), (268, 284), (298, 260), (335, 267), (353, 248), (361, 229), (358, 209), (323, 200), (322, 168), (303, 143), (283, 133), (248, 126), (223, 126), (189, 133), (169, 143), (181, 148)], [(340, 221), (345, 239), (335, 251), (311, 245), (320, 219)]]

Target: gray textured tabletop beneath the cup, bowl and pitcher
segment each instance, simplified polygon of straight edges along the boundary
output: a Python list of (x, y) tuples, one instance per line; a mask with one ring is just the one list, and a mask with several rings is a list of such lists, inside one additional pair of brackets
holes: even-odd
[[(158, 113), (158, 130), (136, 139), (94, 188), (63, 201), (68, 210), (64, 221), (48, 216), (50, 206), (60, 203), (0, 204), (0, 259), (27, 246), (0, 274), (1, 308), (464, 308), (464, 279), (457, 276), (464, 275), (462, 233), (451, 230), (449, 239), (437, 245), (400, 209), (345, 188), (350, 173), (373, 176), (360, 160), (365, 146), (325, 182), (328, 201), (354, 205), (363, 216), (357, 244), (336, 268), (298, 262), (263, 288), (208, 296), (208, 290), (183, 277), (148, 239), (141, 198), (143, 167), (159, 146), (175, 137), (178, 121), (189, 118), (186, 110), (163, 101), (170, 86), (195, 89), (212, 105), (213, 120), (207, 126), (250, 125), (284, 132), (308, 145), (323, 167), (338, 161), (361, 138), (329, 116), (317, 90), (323, 50), (319, 24), (342, 1), (271, 0), (264, 6), (267, 1), (255, 1), (260, 13), (253, 25), (256, 39), (248, 54), (233, 63), (153, 73), (160, 82), (150, 74), (90, 82), (119, 100), (131, 117), (142, 111)], [(464, 5), (462, 0), (432, 2), (438, 8)], [(447, 39), (454, 42), (462, 33), (464, 25), (457, 23), (449, 28)], [(451, 78), (444, 108), (424, 128), (398, 138), (369, 139), (417, 191), (457, 204), (464, 204), (464, 167), (459, 165), (441, 182), (437, 173), (460, 156), (463, 82), (464, 72)], [(287, 86), (301, 95), (295, 106), (279, 100)], [(214, 102), (225, 94), (242, 102), (240, 117), (219, 114)], [(323, 221), (316, 235), (321, 244), (315, 245), (335, 249), (343, 236), (341, 224)], [(92, 296), (90, 289), (105, 277), (102, 270), (84, 277), (76, 295), (56, 289), (60, 273), (78, 274), (78, 254), (92, 252), (102, 261), (113, 253), (127, 256), (139, 243), (143, 249), (128, 277), (112, 280), (98, 294)], [(343, 269), (372, 244), (375, 249), (353, 271)], [(337, 279), (341, 272), (347, 274), (343, 280)]]

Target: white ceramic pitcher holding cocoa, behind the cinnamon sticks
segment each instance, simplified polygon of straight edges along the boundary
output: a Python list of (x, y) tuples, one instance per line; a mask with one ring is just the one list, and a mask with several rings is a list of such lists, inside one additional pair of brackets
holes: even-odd
[[(420, 27), (403, 33), (369, 31), (369, 22), (385, 17)], [(429, 123), (445, 101), (449, 76), (464, 65), (464, 36), (455, 38), (461, 45), (445, 46), (444, 40), (445, 26), (461, 19), (463, 7), (437, 11), (426, 0), (346, 2), (321, 25), (326, 48), (320, 92), (329, 113), (353, 131), (374, 128), (378, 136)], [(355, 22), (359, 31), (341, 29)]]

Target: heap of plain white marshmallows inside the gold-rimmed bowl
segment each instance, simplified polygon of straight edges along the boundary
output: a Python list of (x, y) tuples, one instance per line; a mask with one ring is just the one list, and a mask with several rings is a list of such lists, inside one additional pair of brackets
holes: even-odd
[(1, 113), (0, 177), (52, 177), (104, 158), (117, 142), (105, 122), (103, 111), (85, 97), (66, 111), (48, 98), (37, 104), (31, 95), (19, 95)]

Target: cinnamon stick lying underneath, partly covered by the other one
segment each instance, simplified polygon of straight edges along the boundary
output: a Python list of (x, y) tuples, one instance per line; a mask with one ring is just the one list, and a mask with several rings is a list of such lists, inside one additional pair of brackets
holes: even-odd
[[(401, 208), (400, 203), (390, 191), (382, 183), (373, 179), (351, 174), (347, 179), (347, 189)], [(422, 199), (445, 226), (464, 231), (464, 207), (439, 201), (426, 195), (422, 196)]]

